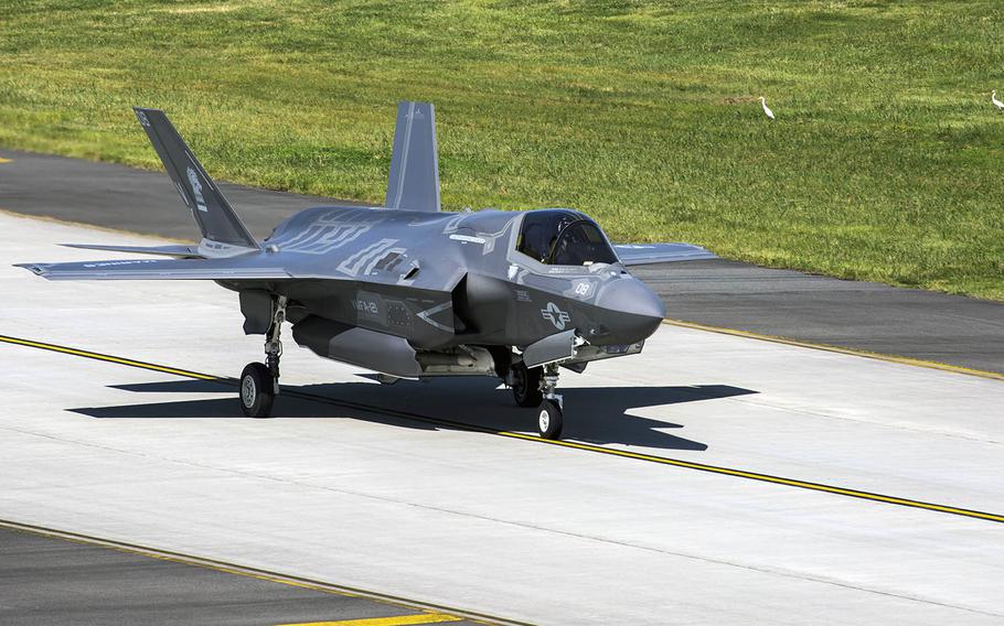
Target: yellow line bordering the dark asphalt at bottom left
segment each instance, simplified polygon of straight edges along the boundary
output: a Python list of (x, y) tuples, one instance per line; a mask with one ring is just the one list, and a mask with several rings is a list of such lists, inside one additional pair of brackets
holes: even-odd
[[(18, 532), (30, 532), (32, 535), (38, 535), (41, 537), (49, 537), (53, 539), (61, 539), (64, 541), (71, 541), (74, 543), (82, 543), (85, 546), (96, 546), (99, 548), (106, 548), (109, 550), (116, 550), (119, 552), (125, 552), (127, 554), (136, 554), (139, 557), (146, 557), (149, 559), (157, 559), (159, 561), (168, 561), (171, 563), (179, 563), (182, 565), (190, 565), (193, 568), (201, 568), (204, 570), (213, 570), (216, 572), (222, 572), (225, 574), (234, 574), (237, 576), (245, 576), (249, 579), (255, 579), (259, 581), (267, 581), (271, 583), (282, 584), (287, 586), (293, 586), (299, 589), (307, 589), (311, 591), (318, 591), (321, 593), (328, 593), (332, 595), (342, 595), (345, 597), (359, 597), (365, 598), (380, 604), (387, 606), (396, 606), (402, 608), (410, 608), (413, 611), (427, 611), (428, 613), (420, 614), (425, 615), (444, 615), (449, 616), (451, 622), (459, 622), (461, 619), (471, 619), (479, 622), (481, 624), (511, 624), (525, 626), (521, 622), (513, 622), (511, 619), (502, 619), (499, 617), (493, 617), (489, 615), (483, 615), (479, 613), (471, 613), (461, 609), (455, 609), (447, 606), (436, 606), (431, 604), (426, 604), (421, 602), (415, 602), (412, 600), (397, 597), (388, 594), (382, 594), (377, 592), (371, 592), (366, 590), (361, 590), (356, 587), (350, 587), (345, 585), (337, 585), (333, 583), (328, 583), (323, 581), (317, 581), (311, 579), (303, 579), (300, 576), (293, 576), (289, 574), (282, 574), (279, 572), (270, 572), (268, 570), (259, 570), (257, 568), (247, 568), (244, 565), (237, 565), (234, 563), (227, 563), (226, 561), (217, 561), (214, 559), (205, 559), (202, 557), (194, 557), (191, 554), (184, 554), (182, 552), (172, 552), (169, 550), (158, 550), (156, 548), (148, 548), (146, 546), (139, 546), (136, 543), (126, 543), (124, 541), (115, 541), (111, 539), (102, 539), (99, 537), (93, 537), (89, 535), (82, 535), (79, 532), (71, 532), (68, 530), (57, 530), (54, 528), (46, 528), (43, 526), (34, 526), (31, 524), (22, 524), (18, 521), (11, 521), (7, 519), (0, 519), (0, 528), (7, 528), (9, 530), (15, 530)], [(445, 613), (449, 611), (451, 613)], [(441, 620), (444, 622), (444, 620)], [(430, 624), (431, 622), (420, 622), (416, 624)]]

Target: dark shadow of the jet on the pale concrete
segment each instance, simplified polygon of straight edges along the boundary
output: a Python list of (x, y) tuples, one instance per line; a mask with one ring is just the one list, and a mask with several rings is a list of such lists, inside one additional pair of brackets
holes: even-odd
[[(102, 419), (245, 418), (233, 385), (211, 380), (177, 380), (113, 385), (115, 389), (140, 393), (222, 393), (225, 397), (168, 402), (78, 408), (71, 412)], [(449, 423), (498, 431), (532, 432), (534, 409), (517, 407), (512, 392), (489, 378), (440, 378), (428, 382), (402, 380), (393, 386), (372, 382), (333, 382), (287, 387), (293, 392), (323, 397), (317, 401), (291, 395), (279, 396), (273, 408), (276, 418), (352, 418), (419, 430), (451, 430)], [(564, 439), (597, 444), (620, 443), (666, 450), (707, 450), (707, 445), (664, 432), (682, 429), (677, 423), (630, 414), (645, 407), (663, 407), (756, 393), (728, 385), (671, 387), (566, 387)], [(373, 410), (341, 406), (365, 404)], [(415, 413), (429, 422), (410, 420), (381, 410)]]

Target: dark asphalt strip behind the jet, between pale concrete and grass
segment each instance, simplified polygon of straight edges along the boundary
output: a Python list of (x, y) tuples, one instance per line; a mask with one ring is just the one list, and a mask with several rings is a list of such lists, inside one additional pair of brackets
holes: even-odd
[[(183, 130), (183, 129), (182, 129)], [(137, 141), (146, 141), (137, 128)], [(0, 150), (0, 208), (197, 240), (163, 172)], [(206, 163), (212, 173), (213, 164)], [(330, 198), (221, 184), (266, 237), (284, 217)], [(670, 317), (1004, 374), (1004, 304), (842, 281), (734, 261), (665, 263), (635, 273)]]

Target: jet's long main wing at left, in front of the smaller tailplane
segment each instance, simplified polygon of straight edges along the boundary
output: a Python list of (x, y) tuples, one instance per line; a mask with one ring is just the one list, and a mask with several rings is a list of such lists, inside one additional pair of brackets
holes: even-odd
[(260, 257), (118, 259), (72, 263), (18, 263), (49, 280), (271, 280), (299, 278)]

